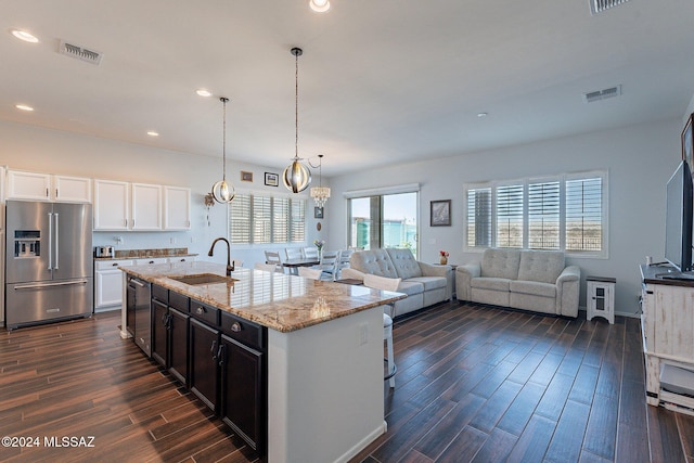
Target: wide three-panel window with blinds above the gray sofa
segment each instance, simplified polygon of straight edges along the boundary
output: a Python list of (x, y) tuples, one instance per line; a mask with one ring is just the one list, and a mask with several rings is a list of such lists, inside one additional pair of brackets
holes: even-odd
[(561, 249), (606, 257), (604, 171), (465, 187), (465, 248)]

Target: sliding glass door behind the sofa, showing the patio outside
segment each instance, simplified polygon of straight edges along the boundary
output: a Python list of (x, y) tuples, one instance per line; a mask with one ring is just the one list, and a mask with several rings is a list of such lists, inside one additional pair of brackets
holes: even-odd
[(417, 252), (419, 194), (397, 193), (349, 200), (349, 245)]

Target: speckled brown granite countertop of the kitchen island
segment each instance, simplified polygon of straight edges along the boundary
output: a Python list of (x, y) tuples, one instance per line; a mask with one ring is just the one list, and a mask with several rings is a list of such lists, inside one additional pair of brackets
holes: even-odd
[(223, 276), (226, 266), (213, 262), (174, 262), (119, 268), (133, 276), (282, 333), (324, 323), (407, 297), (402, 293), (246, 268), (232, 272), (231, 276), (235, 281), (214, 284), (189, 285), (169, 278), (201, 273)]

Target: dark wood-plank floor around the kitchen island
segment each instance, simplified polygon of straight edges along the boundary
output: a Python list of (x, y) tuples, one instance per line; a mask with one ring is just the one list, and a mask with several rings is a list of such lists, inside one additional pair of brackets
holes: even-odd
[[(397, 320), (388, 432), (352, 461), (694, 463), (694, 416), (645, 404), (639, 320), (581, 316), (453, 303)], [(255, 461), (119, 323), (0, 331), (0, 435), (40, 443), (0, 461)], [(46, 447), (63, 436), (93, 447)]]

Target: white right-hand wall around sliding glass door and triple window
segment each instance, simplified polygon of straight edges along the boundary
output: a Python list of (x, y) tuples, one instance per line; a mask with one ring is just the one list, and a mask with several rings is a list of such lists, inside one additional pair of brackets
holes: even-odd
[[(420, 258), (465, 263), (478, 255), (463, 253), (463, 182), (537, 177), (582, 170), (608, 170), (609, 257), (568, 259), (586, 275), (615, 276), (616, 311), (637, 313), (641, 292), (639, 265), (645, 256), (661, 260), (665, 249), (665, 184), (680, 162), (680, 118), (587, 133), (436, 160), (398, 165), (331, 178), (326, 209), (331, 247), (347, 243), (345, 191), (395, 184), (421, 184)], [(387, 179), (387, 181), (384, 181)], [(429, 202), (452, 200), (451, 227), (428, 226)], [(586, 305), (584, 283), (581, 306)]]

